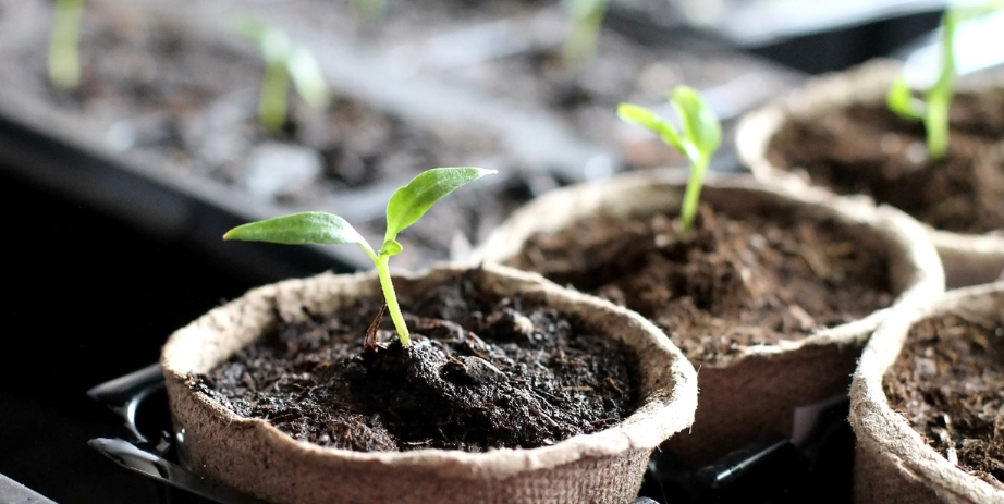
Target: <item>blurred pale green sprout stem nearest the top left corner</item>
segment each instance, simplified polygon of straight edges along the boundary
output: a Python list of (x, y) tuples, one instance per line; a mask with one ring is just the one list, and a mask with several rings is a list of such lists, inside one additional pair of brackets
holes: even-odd
[(81, 19), (84, 0), (57, 0), (49, 39), (49, 82), (59, 90), (81, 85)]

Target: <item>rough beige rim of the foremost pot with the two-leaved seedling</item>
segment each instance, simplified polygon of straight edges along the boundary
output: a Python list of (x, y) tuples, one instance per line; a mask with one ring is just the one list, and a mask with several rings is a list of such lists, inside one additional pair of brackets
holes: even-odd
[[(401, 280), (428, 279), (433, 275), (445, 278), (469, 269), (472, 268), (468, 266), (439, 265), (417, 273), (395, 272), (395, 278)], [(658, 361), (660, 366), (665, 366), (664, 370), (654, 377), (648, 377), (651, 371), (641, 372), (647, 381), (653, 382), (648, 383), (653, 386), (653, 390), (648, 394), (642, 394), (638, 408), (625, 420), (612, 428), (592, 434), (576, 435), (551, 446), (491, 450), (483, 453), (448, 450), (363, 453), (322, 447), (306, 441), (294, 440), (269, 425), (266, 420), (238, 417), (204, 394), (195, 394), (195, 396), (201, 406), (222, 416), (228, 425), (232, 425), (237, 430), (253, 430), (256, 432), (255, 435), (262, 437), (264, 441), (269, 445), (279, 450), (293, 451), (297, 456), (305, 457), (305, 460), (313, 464), (323, 465), (326, 462), (343, 463), (347, 460), (370, 464), (383, 469), (413, 468), (434, 472), (439, 477), (464, 479), (504, 479), (537, 469), (555, 468), (588, 457), (622, 455), (635, 450), (651, 450), (673, 433), (679, 432), (693, 423), (694, 411), (697, 407), (696, 372), (679, 349), (651, 322), (637, 314), (605, 300), (562, 288), (534, 273), (503, 266), (485, 266), (480, 269), (493, 279), (492, 282), (502, 282), (505, 287), (502, 292), (503, 295), (504, 292), (515, 293), (517, 291), (542, 294), (549, 304), (554, 304), (560, 309), (567, 309), (568, 306), (575, 304), (585, 304), (597, 314), (602, 312), (614, 317), (619, 324), (627, 322), (627, 327), (636, 334), (634, 337), (638, 340), (627, 343), (639, 354), (639, 372), (646, 367), (646, 361), (649, 365)], [(254, 288), (238, 299), (215, 308), (170, 336), (161, 357), (161, 368), (169, 385), (181, 384), (181, 386), (186, 386), (184, 385), (186, 371), (179, 369), (175, 361), (182, 360), (184, 362), (186, 360), (183, 356), (184, 351), (186, 351), (183, 347), (183, 340), (197, 337), (199, 332), (205, 331), (205, 329), (199, 328), (200, 324), (209, 327), (225, 324), (229, 319), (228, 309), (233, 309), (233, 307), (256, 298), (276, 299), (277, 295), (281, 295), (281, 291), (290, 291), (297, 295), (303, 294), (305, 286), (309, 287), (319, 282), (365, 285), (359, 293), (354, 296), (346, 296), (346, 298), (379, 295), (376, 271), (342, 275), (335, 275), (330, 272), (321, 273), (310, 279), (286, 280)], [(492, 285), (492, 291), (500, 292), (499, 286)], [(339, 304), (335, 302), (335, 306)], [(597, 323), (595, 320), (589, 320), (589, 322)], [(644, 337), (641, 336), (642, 334)], [(640, 352), (641, 349), (648, 352), (642, 353)], [(653, 357), (657, 354), (661, 358)], [(188, 358), (187, 360), (192, 359)], [(665, 362), (666, 360), (669, 362)], [(201, 362), (201, 365), (205, 366), (205, 362)], [(188, 362), (184, 367), (191, 370), (193, 362)]]

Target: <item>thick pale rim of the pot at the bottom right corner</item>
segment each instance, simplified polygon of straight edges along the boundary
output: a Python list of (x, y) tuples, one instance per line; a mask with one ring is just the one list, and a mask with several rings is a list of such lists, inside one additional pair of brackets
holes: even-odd
[[(1004, 282), (996, 282), (950, 291), (913, 310), (895, 314), (874, 331), (854, 373), (848, 420), (858, 446), (869, 442), (886, 463), (921, 481), (942, 499), (953, 496), (964, 502), (1000, 504), (1004, 503), (1004, 491), (959, 469), (925, 443), (909, 422), (890, 408), (882, 380), (917, 322), (951, 312), (1001, 307), (1004, 307)], [(880, 440), (878, 434), (884, 439)]]

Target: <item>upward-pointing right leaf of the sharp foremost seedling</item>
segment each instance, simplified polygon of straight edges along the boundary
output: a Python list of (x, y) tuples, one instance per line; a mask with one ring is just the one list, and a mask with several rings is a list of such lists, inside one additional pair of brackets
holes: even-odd
[(498, 173), (495, 170), (481, 168), (433, 168), (412, 180), (408, 185), (397, 189), (387, 204), (387, 234), (383, 237), (384, 251), (401, 251), (396, 244), (397, 233), (412, 225), (443, 196), (457, 187), (474, 182), (485, 175)]

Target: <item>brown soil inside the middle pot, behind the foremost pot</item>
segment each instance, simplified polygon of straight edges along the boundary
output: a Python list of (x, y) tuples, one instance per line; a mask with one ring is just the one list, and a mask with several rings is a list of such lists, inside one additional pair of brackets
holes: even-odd
[(885, 257), (796, 213), (732, 219), (702, 206), (689, 241), (675, 216), (597, 217), (532, 236), (510, 265), (627, 306), (691, 362), (712, 362), (892, 303)]

